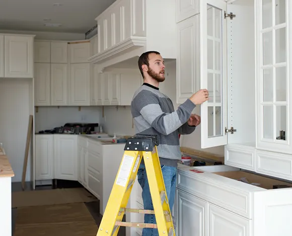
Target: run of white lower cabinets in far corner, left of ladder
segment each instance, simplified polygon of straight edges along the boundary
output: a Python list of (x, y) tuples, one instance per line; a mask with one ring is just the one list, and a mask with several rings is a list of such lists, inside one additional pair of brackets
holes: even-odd
[(125, 144), (102, 144), (73, 134), (37, 134), (35, 143), (36, 185), (52, 179), (79, 181), (100, 200), (103, 215)]

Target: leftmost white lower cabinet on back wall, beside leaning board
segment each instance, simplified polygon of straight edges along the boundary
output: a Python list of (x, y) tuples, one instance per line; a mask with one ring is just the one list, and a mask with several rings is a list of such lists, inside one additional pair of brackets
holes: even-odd
[(35, 180), (54, 179), (54, 136), (35, 135)]

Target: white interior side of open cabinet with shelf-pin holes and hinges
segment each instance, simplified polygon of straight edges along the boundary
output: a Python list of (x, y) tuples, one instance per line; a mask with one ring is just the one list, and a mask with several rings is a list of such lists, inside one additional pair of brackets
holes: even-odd
[(256, 72), (254, 0), (238, 0), (227, 5), (227, 107), (228, 143), (255, 147)]

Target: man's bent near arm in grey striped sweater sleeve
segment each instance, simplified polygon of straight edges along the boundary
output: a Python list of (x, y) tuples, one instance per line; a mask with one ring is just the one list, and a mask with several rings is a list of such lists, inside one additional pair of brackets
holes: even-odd
[(187, 99), (176, 111), (166, 114), (160, 107), (159, 98), (148, 90), (137, 94), (133, 99), (133, 105), (155, 130), (164, 135), (174, 132), (185, 124), (196, 106)]

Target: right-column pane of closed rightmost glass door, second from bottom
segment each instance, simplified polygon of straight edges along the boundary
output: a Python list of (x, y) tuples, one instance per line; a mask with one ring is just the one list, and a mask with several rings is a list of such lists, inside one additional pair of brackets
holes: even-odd
[(286, 76), (286, 66), (276, 67), (276, 101), (285, 102), (287, 101), (287, 76)]

